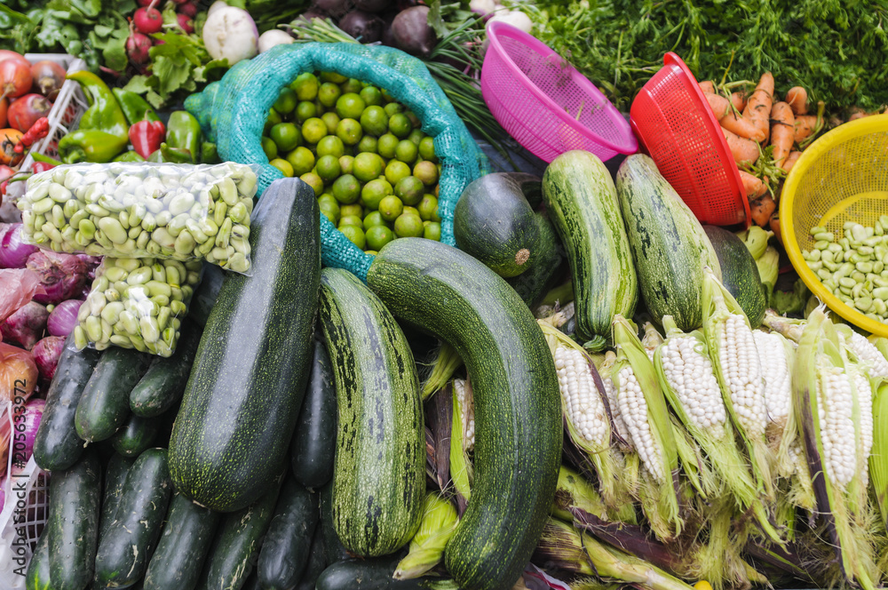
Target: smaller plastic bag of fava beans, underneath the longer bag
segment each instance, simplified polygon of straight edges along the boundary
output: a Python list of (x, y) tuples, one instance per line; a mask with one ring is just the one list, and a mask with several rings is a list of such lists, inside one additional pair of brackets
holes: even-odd
[(106, 257), (77, 314), (75, 347), (172, 355), (201, 269), (199, 260)]

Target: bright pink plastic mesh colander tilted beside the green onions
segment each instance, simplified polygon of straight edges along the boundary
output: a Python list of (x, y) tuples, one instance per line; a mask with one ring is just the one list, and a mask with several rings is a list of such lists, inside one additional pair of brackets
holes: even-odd
[(572, 149), (602, 161), (638, 151), (620, 111), (558, 53), (504, 22), (489, 22), (487, 32), (481, 93), (522, 146), (546, 162)]

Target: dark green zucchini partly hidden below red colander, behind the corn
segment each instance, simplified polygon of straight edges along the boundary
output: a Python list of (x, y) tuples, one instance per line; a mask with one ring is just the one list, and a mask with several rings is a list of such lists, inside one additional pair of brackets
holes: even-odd
[(765, 285), (758, 274), (756, 259), (746, 244), (733, 232), (717, 226), (703, 226), (710, 238), (722, 270), (722, 284), (737, 299), (753, 328), (761, 325), (768, 307)]

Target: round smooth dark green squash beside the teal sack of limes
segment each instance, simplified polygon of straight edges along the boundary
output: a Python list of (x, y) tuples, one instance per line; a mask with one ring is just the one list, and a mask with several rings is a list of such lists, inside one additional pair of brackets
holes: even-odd
[(543, 252), (525, 187), (539, 193), (540, 179), (523, 172), (488, 174), (465, 187), (453, 211), (459, 249), (503, 277), (534, 267)]

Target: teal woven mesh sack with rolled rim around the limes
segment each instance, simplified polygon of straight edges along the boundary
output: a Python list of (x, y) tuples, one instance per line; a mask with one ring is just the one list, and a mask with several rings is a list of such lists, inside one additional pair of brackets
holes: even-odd
[[(281, 88), (302, 72), (336, 72), (385, 88), (412, 110), (432, 136), (441, 163), (438, 215), (441, 242), (456, 246), (453, 210), (463, 189), (489, 171), (487, 157), (454, 111), (422, 61), (391, 47), (361, 44), (277, 45), (252, 60), (243, 60), (203, 92), (193, 94), (185, 108), (200, 121), (204, 135), (215, 141), (223, 160), (262, 164), (258, 195), (281, 171), (268, 163), (260, 138), (268, 109)], [(321, 259), (328, 267), (345, 268), (367, 280), (373, 256), (365, 254), (321, 214)]]

